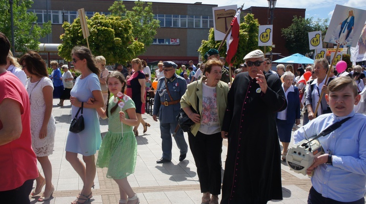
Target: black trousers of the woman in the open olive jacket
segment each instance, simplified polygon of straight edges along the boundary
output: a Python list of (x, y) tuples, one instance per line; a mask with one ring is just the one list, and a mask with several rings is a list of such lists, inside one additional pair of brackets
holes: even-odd
[(221, 193), (221, 132), (207, 135), (198, 131), (196, 136), (188, 132), (188, 142), (197, 167), (201, 192), (212, 195)]

